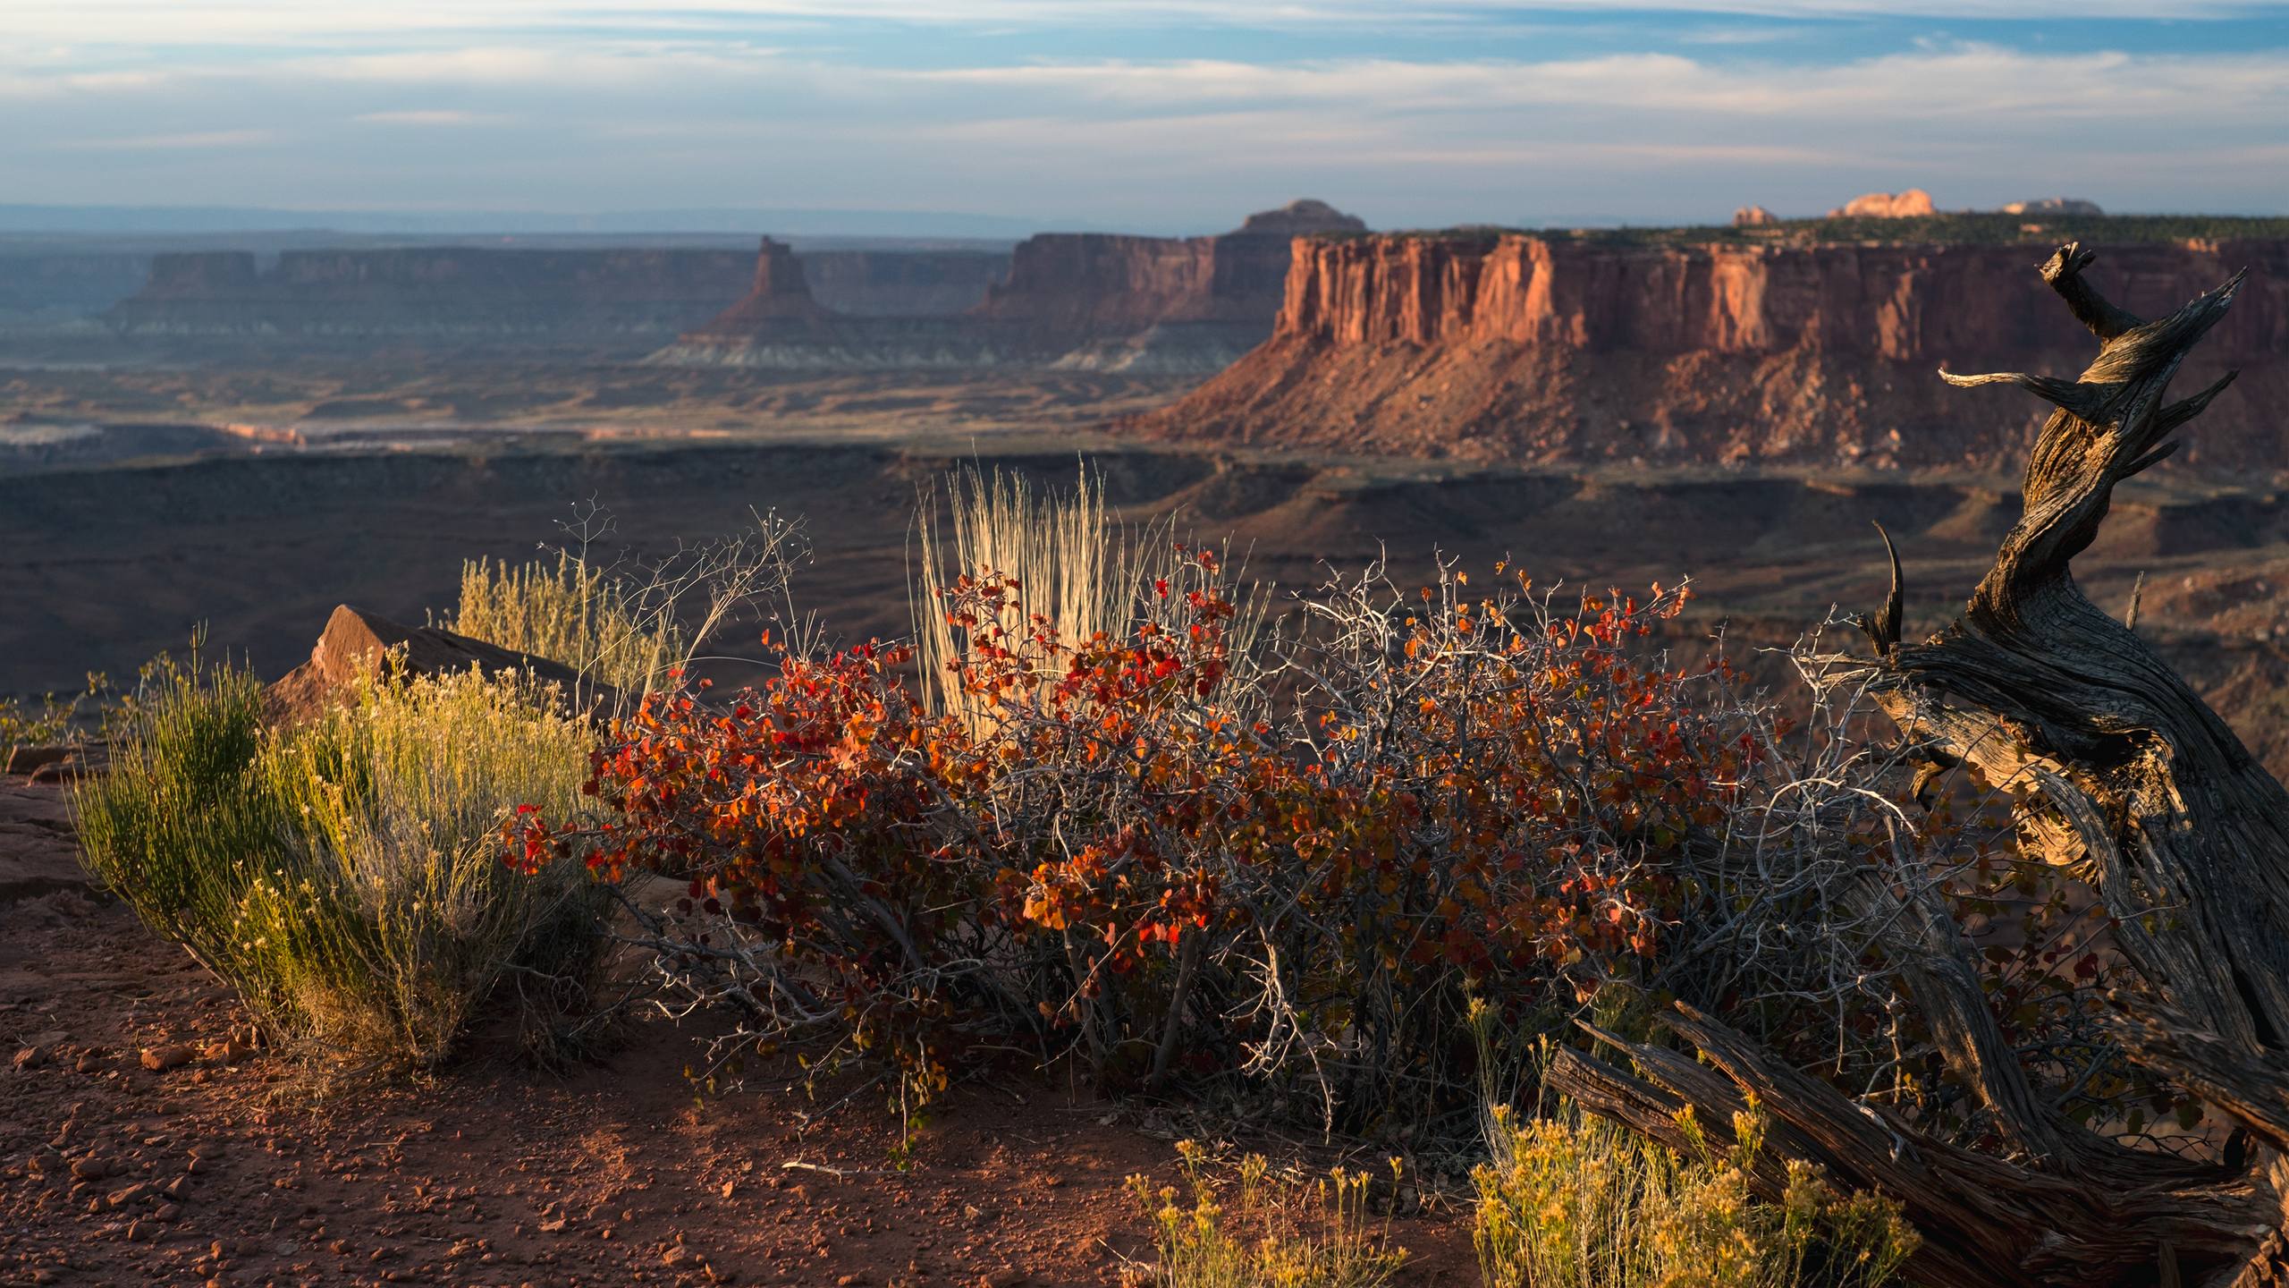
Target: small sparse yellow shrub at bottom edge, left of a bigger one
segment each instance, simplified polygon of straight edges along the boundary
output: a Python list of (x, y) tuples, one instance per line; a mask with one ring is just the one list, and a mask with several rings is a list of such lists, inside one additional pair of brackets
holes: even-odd
[[(1405, 1249), (1389, 1242), (1389, 1215), (1369, 1210), (1369, 1176), (1332, 1169), (1309, 1183), (1277, 1178), (1248, 1155), (1238, 1185), (1218, 1183), (1206, 1150), (1177, 1144), (1183, 1185), (1154, 1189), (1128, 1178), (1151, 1222), (1154, 1263), (1128, 1283), (1151, 1288), (1378, 1288), (1394, 1283)], [(1396, 1180), (1396, 1164), (1394, 1164)]]

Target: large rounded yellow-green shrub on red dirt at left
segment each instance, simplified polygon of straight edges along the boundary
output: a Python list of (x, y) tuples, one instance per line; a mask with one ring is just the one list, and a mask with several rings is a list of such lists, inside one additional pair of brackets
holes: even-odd
[(442, 1059), (504, 974), (602, 944), (577, 866), (499, 864), (517, 804), (570, 811), (588, 729), (517, 678), (373, 678), (291, 736), (238, 667), (156, 672), (76, 788), (87, 866), (279, 1036), (364, 1061)]

